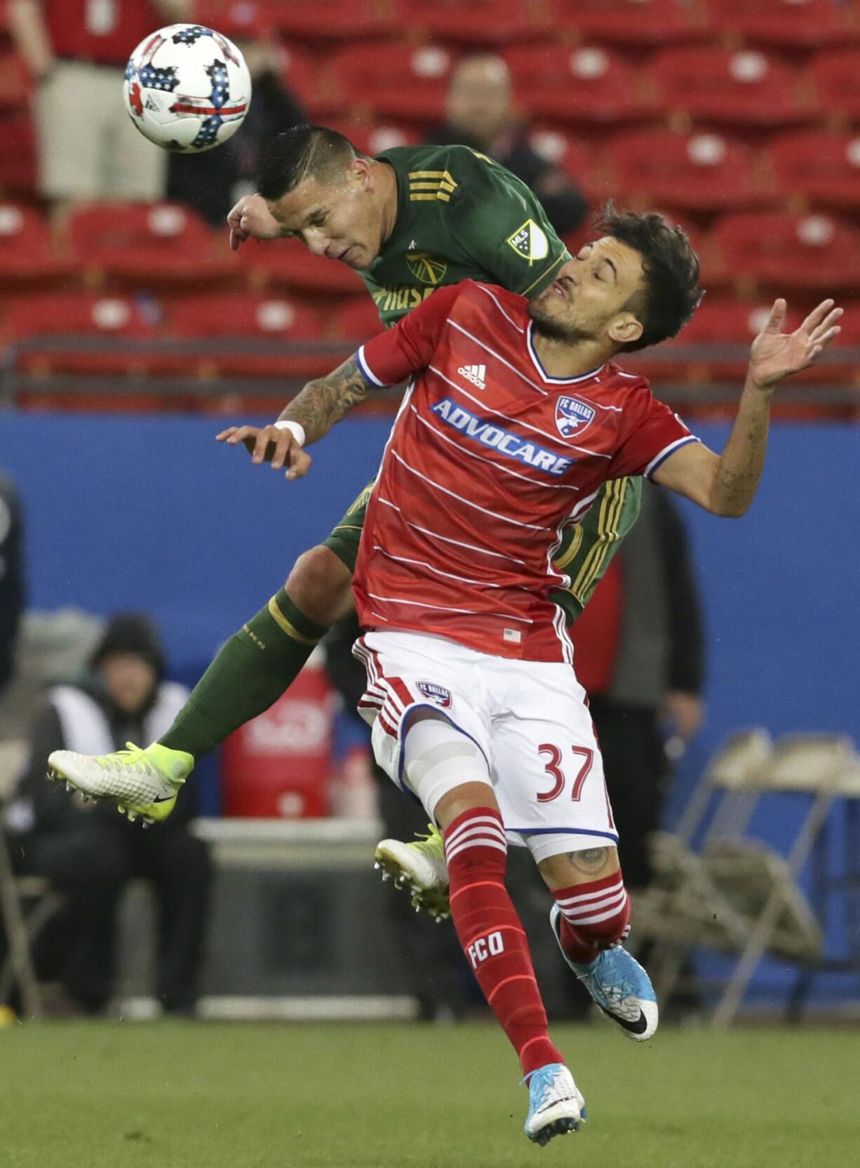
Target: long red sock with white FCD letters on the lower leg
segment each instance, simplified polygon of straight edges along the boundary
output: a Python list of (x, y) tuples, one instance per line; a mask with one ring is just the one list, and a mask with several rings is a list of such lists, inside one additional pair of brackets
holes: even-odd
[(504, 885), (508, 843), (497, 811), (473, 807), (445, 833), (450, 915), (460, 944), (523, 1073), (564, 1058), (550, 1042), (525, 930)]

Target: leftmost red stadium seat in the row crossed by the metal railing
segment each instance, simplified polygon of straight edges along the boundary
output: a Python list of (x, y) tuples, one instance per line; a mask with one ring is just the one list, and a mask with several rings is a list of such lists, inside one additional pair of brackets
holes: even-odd
[[(133, 352), (128, 345), (99, 352), (98, 341), (120, 336), (125, 341), (142, 340), (154, 336), (155, 328), (132, 297), (65, 292), (19, 299), (9, 312), (8, 335), (16, 341), (57, 338), (56, 342), (28, 345), (16, 361), (21, 371), (123, 376), (146, 370), (146, 355)], [(91, 348), (88, 341), (93, 342)]]

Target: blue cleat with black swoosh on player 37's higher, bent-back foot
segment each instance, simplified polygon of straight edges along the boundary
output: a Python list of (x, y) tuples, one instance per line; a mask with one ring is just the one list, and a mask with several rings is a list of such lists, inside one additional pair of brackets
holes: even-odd
[[(561, 910), (553, 904), (550, 924), (561, 948)], [(608, 1018), (634, 1042), (645, 1042), (657, 1029), (659, 1010), (651, 979), (621, 941), (593, 961), (572, 961), (561, 955)]]

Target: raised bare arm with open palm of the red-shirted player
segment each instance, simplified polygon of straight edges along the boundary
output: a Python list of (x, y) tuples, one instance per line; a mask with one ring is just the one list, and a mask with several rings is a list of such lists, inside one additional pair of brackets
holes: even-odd
[(764, 466), (770, 398), (777, 384), (807, 369), (839, 333), (842, 315), (833, 300), (823, 300), (793, 333), (782, 333), (785, 301), (777, 300), (762, 332), (753, 341), (747, 380), (732, 433), (722, 454), (699, 443), (681, 446), (657, 467), (656, 482), (670, 487), (714, 515), (736, 519), (749, 509)]

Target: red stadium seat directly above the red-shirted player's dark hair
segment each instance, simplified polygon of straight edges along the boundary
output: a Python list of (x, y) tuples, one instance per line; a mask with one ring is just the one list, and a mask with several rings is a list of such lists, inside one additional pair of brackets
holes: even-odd
[(756, 179), (753, 151), (711, 131), (628, 131), (609, 140), (606, 158), (610, 187), (637, 206), (732, 210), (770, 196)]

